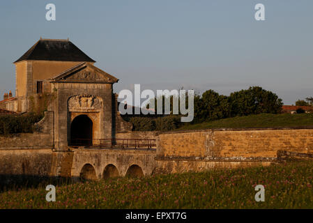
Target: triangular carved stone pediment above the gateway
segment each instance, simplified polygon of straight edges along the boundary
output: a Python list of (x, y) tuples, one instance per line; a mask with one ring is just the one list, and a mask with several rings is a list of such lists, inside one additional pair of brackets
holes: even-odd
[(80, 63), (78, 66), (62, 72), (51, 79), (54, 82), (86, 82), (86, 83), (116, 83), (116, 77), (96, 68), (90, 63)]

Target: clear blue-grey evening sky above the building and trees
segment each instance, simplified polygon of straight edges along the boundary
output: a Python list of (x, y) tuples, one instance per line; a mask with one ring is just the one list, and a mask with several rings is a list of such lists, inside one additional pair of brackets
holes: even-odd
[[(56, 21), (45, 20), (47, 3)], [(254, 20), (264, 3), (266, 21)], [(262, 86), (284, 104), (313, 96), (312, 0), (27, 0), (0, 2), (0, 96), (15, 92), (18, 59), (42, 36), (70, 38), (119, 78), (114, 91)]]

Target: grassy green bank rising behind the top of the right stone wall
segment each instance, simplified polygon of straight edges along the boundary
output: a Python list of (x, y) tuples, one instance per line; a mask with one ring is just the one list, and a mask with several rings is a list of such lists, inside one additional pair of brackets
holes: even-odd
[(209, 128), (277, 128), (313, 126), (313, 114), (257, 114), (217, 121), (186, 124), (178, 130), (201, 130)]

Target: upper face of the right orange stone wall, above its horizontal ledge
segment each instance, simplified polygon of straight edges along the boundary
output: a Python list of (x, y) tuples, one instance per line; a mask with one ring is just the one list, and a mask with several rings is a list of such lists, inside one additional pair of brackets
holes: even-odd
[(162, 157), (276, 157), (278, 150), (313, 153), (313, 129), (200, 130), (158, 135)]

